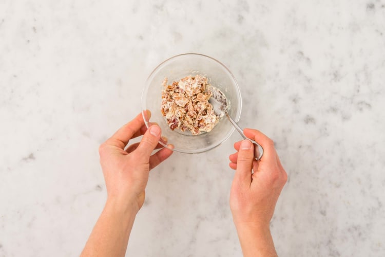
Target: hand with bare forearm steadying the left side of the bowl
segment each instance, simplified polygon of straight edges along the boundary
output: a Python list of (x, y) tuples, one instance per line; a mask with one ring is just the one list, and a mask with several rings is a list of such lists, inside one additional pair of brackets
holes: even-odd
[[(144, 114), (148, 119), (151, 116), (149, 111)], [(125, 149), (130, 139), (141, 135), (140, 143)], [(149, 171), (172, 154), (158, 143), (160, 137), (160, 127), (151, 124), (147, 129), (139, 114), (100, 145), (107, 203), (81, 256), (125, 255), (135, 216), (144, 203)], [(161, 150), (151, 155), (155, 149)]]

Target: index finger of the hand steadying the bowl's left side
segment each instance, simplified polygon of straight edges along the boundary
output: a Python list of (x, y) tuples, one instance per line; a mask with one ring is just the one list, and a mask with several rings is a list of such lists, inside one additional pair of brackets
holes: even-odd
[[(149, 118), (151, 116), (151, 113), (149, 111), (146, 111), (146, 116), (147, 118)], [(140, 113), (133, 120), (122, 126), (117, 132), (115, 132), (115, 134), (112, 135), (112, 137), (107, 139), (107, 141), (109, 144), (124, 149), (128, 141), (132, 137), (139, 136), (141, 130), (145, 131), (145, 128), (143, 126), (144, 120), (142, 114)]]

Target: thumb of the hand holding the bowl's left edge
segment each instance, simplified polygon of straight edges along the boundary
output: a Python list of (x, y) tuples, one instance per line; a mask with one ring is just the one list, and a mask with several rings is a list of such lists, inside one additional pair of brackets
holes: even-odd
[(158, 125), (152, 125), (144, 133), (138, 148), (135, 150), (141, 158), (148, 160), (152, 151), (156, 148), (161, 136), (161, 128)]

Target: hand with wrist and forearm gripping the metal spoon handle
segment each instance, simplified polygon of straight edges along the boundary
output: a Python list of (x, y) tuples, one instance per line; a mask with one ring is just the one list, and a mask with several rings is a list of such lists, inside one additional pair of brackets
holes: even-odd
[(287, 174), (271, 139), (249, 128), (243, 132), (262, 146), (263, 156), (259, 161), (254, 159), (253, 144), (249, 140), (234, 144), (237, 153), (229, 156), (229, 166), (236, 170), (230, 191), (230, 209), (244, 255), (256, 256), (257, 240), (265, 242), (259, 252), (268, 250), (264, 256), (275, 256), (269, 223)]

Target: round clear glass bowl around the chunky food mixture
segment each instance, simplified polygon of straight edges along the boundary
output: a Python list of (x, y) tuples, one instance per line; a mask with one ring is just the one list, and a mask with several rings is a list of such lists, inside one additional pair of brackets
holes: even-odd
[[(207, 133), (192, 135), (179, 129), (172, 131), (161, 113), (162, 82), (168, 78), (168, 84), (189, 75), (203, 75), (211, 86), (219, 88), (229, 101), (228, 114), (238, 121), (241, 115), (242, 99), (238, 84), (233, 74), (214, 58), (198, 53), (185, 53), (167, 59), (158, 65), (148, 77), (142, 94), (142, 114), (146, 126), (149, 122), (156, 122), (162, 129), (162, 136), (167, 137), (168, 144), (174, 145), (174, 151), (182, 153), (202, 153), (223, 143), (234, 131), (234, 126), (222, 117), (218, 124)], [(145, 110), (151, 111), (150, 120)], [(160, 141), (162, 145), (167, 144)]]

